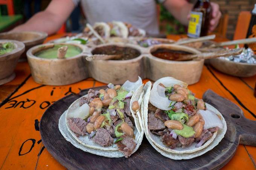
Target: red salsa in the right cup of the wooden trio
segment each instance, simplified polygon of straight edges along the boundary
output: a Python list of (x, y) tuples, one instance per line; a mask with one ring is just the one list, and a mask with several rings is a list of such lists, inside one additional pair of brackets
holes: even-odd
[(186, 52), (186, 51), (166, 49), (166, 48), (158, 48), (156, 51), (151, 52), (151, 54), (157, 58), (162, 58), (165, 60), (177, 60), (178, 58), (184, 55), (189, 55), (192, 53)]

